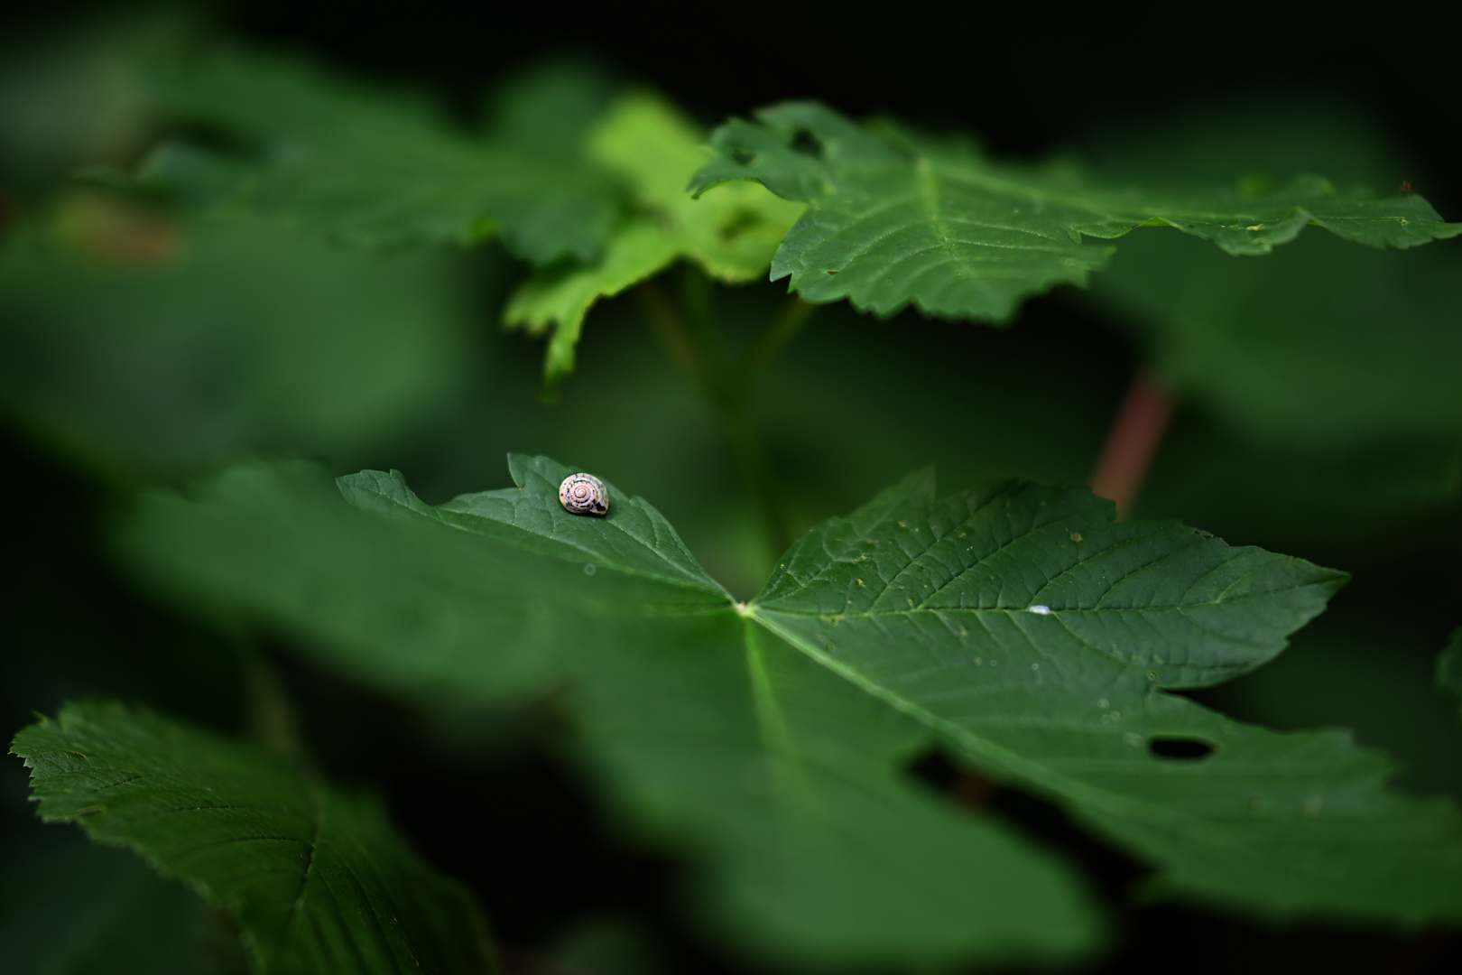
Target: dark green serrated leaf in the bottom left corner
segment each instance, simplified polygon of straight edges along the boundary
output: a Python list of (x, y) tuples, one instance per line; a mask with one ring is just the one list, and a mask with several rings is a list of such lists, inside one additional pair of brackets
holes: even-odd
[(488, 972), (471, 895), (382, 810), (257, 746), (118, 705), (20, 731), (39, 816), (127, 846), (238, 921), (262, 972)]

